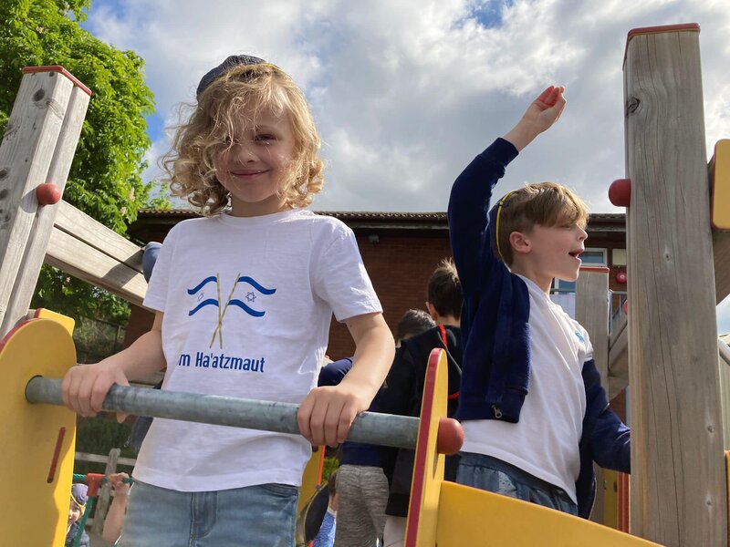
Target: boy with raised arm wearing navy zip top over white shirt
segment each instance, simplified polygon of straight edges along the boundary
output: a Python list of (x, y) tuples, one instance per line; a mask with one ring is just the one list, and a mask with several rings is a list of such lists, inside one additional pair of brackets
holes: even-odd
[(486, 213), (506, 165), (565, 104), (563, 88), (547, 88), (454, 182), (449, 229), (464, 293), (456, 481), (588, 518), (593, 461), (631, 464), (630, 432), (609, 408), (588, 333), (549, 298), (554, 278), (578, 278), (588, 212), (545, 182)]

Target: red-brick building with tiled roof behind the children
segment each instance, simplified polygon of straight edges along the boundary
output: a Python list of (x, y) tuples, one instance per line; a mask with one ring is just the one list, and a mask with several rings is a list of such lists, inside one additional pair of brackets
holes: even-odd
[[(321, 212), (345, 222), (357, 236), (363, 262), (384, 309), (385, 320), (395, 331), (403, 312), (424, 309), (426, 283), (443, 257), (451, 256), (445, 212)], [(177, 222), (193, 218), (189, 211), (141, 212), (130, 226), (130, 235), (143, 242), (162, 242)], [(586, 265), (611, 268), (610, 288), (625, 291), (617, 277), (626, 270), (625, 221), (623, 214), (591, 215)], [(572, 284), (558, 283), (560, 291)], [(129, 344), (151, 326), (151, 313), (133, 306), (127, 329)], [(344, 325), (333, 321), (328, 355), (338, 359), (352, 355), (354, 344)]]

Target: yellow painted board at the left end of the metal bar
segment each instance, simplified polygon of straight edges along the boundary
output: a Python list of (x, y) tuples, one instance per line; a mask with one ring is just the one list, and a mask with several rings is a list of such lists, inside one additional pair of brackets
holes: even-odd
[(31, 405), (25, 391), (31, 377), (63, 377), (76, 364), (76, 349), (67, 327), (52, 319), (17, 325), (0, 346), (0, 545), (60, 547), (68, 522), (76, 415), (64, 407)]

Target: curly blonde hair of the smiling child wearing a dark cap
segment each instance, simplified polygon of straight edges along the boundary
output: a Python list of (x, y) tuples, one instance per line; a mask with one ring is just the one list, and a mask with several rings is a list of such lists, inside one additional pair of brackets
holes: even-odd
[(294, 160), (277, 191), (286, 206), (306, 207), (322, 190), (324, 163), (320, 139), (307, 99), (294, 81), (268, 63), (233, 67), (198, 96), (188, 120), (175, 126), (172, 149), (162, 158), (172, 195), (186, 199), (204, 215), (223, 212), (229, 192), (218, 181), (215, 157), (234, 146), (235, 128), (244, 119), (255, 126), (262, 110), (286, 116), (295, 139)]

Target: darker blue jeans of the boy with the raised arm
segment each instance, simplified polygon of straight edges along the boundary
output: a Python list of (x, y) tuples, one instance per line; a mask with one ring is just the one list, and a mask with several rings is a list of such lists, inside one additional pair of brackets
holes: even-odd
[(565, 490), (501, 459), (472, 452), (461, 452), (461, 457), (459, 470), (456, 471), (456, 482), (459, 484), (578, 516), (578, 506)]

